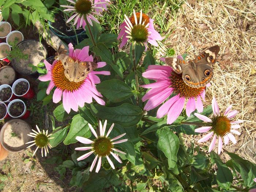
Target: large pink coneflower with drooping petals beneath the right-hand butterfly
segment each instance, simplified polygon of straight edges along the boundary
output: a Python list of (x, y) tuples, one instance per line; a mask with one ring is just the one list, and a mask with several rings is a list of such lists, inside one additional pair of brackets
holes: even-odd
[[(180, 57), (178, 56), (178, 58)], [(154, 109), (169, 98), (171, 94), (176, 94), (158, 109), (157, 118), (161, 118), (167, 114), (167, 123), (172, 124), (182, 112), (186, 99), (188, 100), (186, 105), (188, 117), (195, 109), (199, 113), (203, 112), (201, 98), (204, 100), (205, 87), (189, 87), (184, 83), (182, 74), (176, 74), (169, 66), (149, 65), (142, 76), (157, 81), (141, 86), (147, 89), (151, 88), (142, 97), (143, 102), (148, 100), (144, 106), (144, 110)]]

